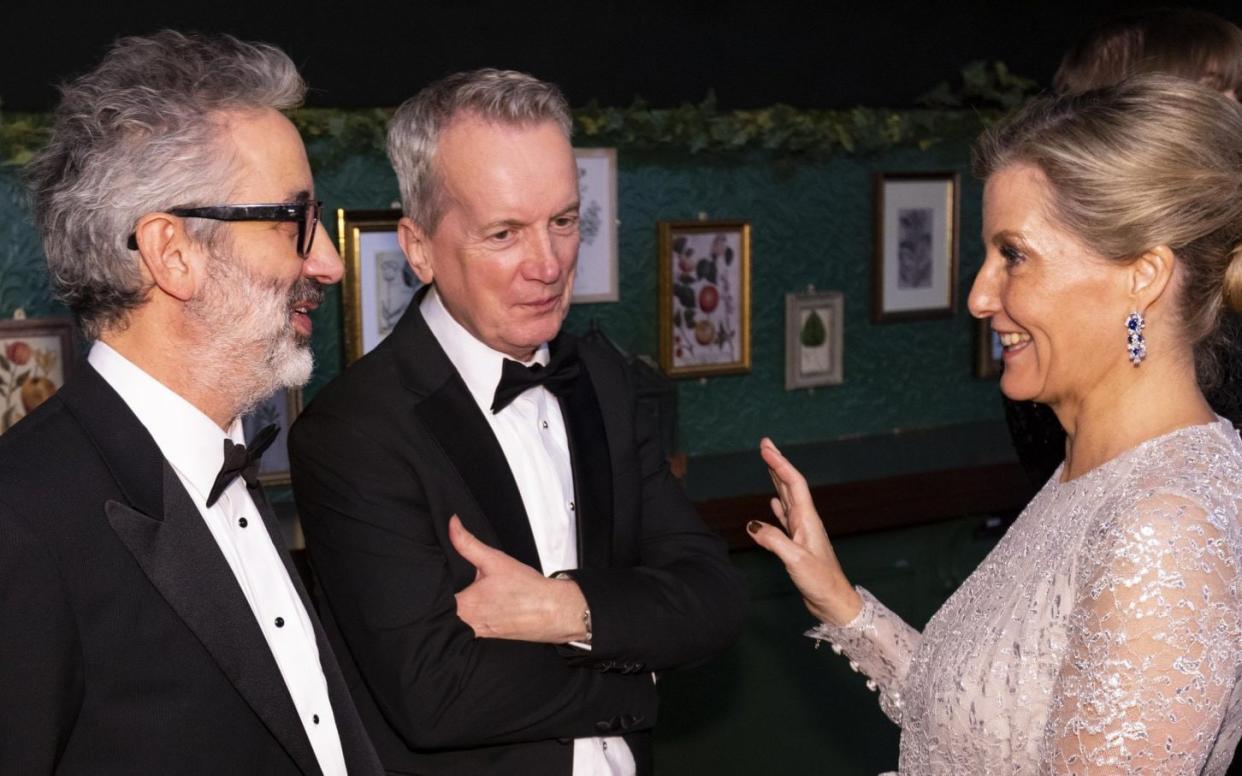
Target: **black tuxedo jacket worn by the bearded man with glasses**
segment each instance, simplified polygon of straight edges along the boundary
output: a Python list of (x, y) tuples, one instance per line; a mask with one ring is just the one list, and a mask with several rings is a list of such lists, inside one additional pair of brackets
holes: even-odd
[[(315, 622), (347, 766), (381, 772), (287, 554), (286, 569)], [(0, 774), (320, 772), (197, 508), (84, 363), (0, 437)]]

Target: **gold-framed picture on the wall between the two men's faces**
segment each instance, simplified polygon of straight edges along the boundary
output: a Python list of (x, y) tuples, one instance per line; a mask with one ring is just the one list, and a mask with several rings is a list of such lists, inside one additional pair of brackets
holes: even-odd
[(337, 210), (345, 364), (380, 344), (422, 284), (396, 241), (400, 210)]

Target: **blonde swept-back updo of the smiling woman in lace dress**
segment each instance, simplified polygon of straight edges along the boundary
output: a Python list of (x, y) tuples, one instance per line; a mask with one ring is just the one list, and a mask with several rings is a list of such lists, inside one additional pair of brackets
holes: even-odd
[(975, 145), (981, 179), (1020, 163), (1043, 173), (1052, 217), (1094, 252), (1174, 252), (1184, 334), (1200, 384), (1215, 385), (1221, 313), (1242, 312), (1242, 106), (1156, 73), (1036, 98)]

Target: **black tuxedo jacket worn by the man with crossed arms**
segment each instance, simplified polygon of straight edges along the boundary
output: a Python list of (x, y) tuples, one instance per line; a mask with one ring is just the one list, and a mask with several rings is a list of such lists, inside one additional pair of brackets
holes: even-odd
[(453, 598), (474, 569), (448, 518), (535, 569), (539, 556), (504, 453), (421, 299), (289, 437), (324, 623), (380, 759), (400, 774), (568, 775), (574, 738), (625, 735), (650, 772), (652, 672), (732, 643), (740, 575), (636, 418), (625, 364), (578, 343), (585, 374), (560, 406), (592, 649), (476, 639)]

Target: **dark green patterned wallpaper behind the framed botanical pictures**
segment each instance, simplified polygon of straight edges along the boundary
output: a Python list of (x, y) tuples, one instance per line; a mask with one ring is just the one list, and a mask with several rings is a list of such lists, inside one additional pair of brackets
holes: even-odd
[[(692, 456), (750, 449), (763, 435), (782, 443), (817, 442), (1001, 417), (995, 382), (972, 376), (965, 296), (981, 261), (980, 186), (966, 174), (964, 144), (823, 161), (621, 149), (619, 165), (621, 300), (575, 308), (566, 323), (571, 330), (584, 332), (594, 318), (622, 348), (655, 354), (656, 221), (705, 212), (753, 223), (753, 369), (679, 381), (681, 447)], [(874, 325), (871, 176), (941, 169), (963, 171), (959, 313)], [(317, 170), (317, 186), (332, 209), (386, 207), (396, 197), (396, 180), (379, 154)], [(785, 294), (807, 284), (845, 293), (845, 384), (786, 392)], [(334, 291), (317, 314), (319, 368), (308, 396), (342, 365), (339, 299)], [(48, 292), (19, 171), (10, 166), (0, 169), (0, 317), (17, 307), (30, 315), (65, 314)]]

